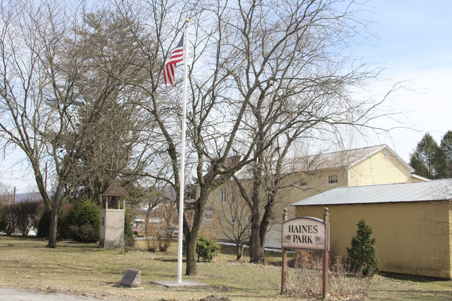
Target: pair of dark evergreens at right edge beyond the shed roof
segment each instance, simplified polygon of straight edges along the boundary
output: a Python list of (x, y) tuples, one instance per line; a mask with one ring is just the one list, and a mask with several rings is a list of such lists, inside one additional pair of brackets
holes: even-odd
[(452, 131), (447, 131), (438, 143), (426, 133), (410, 154), (410, 165), (416, 174), (427, 179), (452, 178)]

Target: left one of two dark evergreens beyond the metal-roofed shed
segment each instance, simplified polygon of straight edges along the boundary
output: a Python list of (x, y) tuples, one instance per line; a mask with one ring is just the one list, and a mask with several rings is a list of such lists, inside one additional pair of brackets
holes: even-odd
[(410, 155), (410, 165), (416, 170), (417, 175), (427, 179), (436, 178), (438, 149), (438, 144), (429, 133), (426, 133), (417, 143), (414, 153)]

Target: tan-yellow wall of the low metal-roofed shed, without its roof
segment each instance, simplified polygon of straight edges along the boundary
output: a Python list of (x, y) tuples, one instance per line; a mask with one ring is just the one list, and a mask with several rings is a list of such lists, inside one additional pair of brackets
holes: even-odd
[[(377, 239), (381, 270), (450, 278), (452, 213), (443, 203), (401, 202), (329, 205), (331, 255), (347, 256), (359, 220)], [(323, 218), (324, 206), (295, 206), (297, 217)]]

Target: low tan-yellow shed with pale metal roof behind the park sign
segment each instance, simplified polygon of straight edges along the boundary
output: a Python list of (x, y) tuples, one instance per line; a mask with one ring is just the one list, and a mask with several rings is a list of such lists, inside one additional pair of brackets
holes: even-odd
[(297, 217), (329, 209), (331, 255), (347, 256), (359, 220), (373, 228), (381, 270), (450, 278), (452, 179), (342, 187), (293, 204)]

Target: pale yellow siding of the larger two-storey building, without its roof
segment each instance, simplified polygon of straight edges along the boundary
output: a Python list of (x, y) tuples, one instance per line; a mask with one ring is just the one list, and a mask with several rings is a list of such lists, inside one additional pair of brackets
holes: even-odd
[[(328, 184), (327, 177), (334, 175), (337, 176), (337, 184)], [(299, 186), (301, 179), (306, 180), (306, 186)], [(289, 218), (295, 217), (295, 211), (289, 207), (292, 203), (337, 187), (403, 183), (409, 181), (411, 181), (411, 171), (404, 164), (398, 162), (397, 157), (394, 157), (392, 152), (387, 151), (386, 148), (379, 150), (370, 157), (364, 158), (352, 167), (321, 169), (308, 173), (294, 173), (289, 175), (285, 179), (284, 184), (286, 186), (292, 185), (293, 187), (284, 189), (278, 194), (278, 201), (274, 205), (275, 219), (271, 230), (267, 233), (267, 245), (270, 247), (281, 247), (281, 216), (283, 209), (287, 208), (289, 210)], [(248, 182), (248, 190), (252, 189), (251, 180), (246, 179), (243, 182)], [(224, 208), (220, 204), (220, 189), (225, 189), (227, 197), (230, 198), (231, 191), (234, 187), (234, 181), (228, 181), (212, 191), (209, 195), (207, 206), (214, 207), (215, 214), (221, 216), (222, 219), (231, 219), (231, 214), (226, 212), (225, 216), (223, 216), (221, 213), (221, 210), (224, 210)], [(236, 198), (240, 198), (243, 201), (238, 191), (236, 192)], [(219, 238), (227, 239), (222, 233), (220, 233)]]

